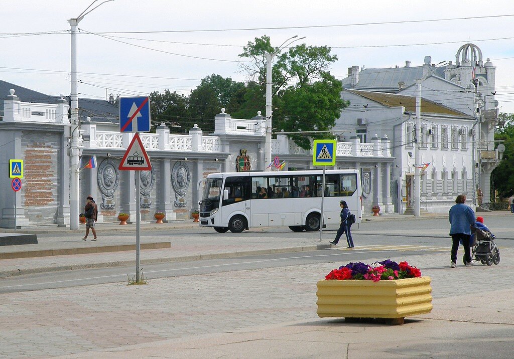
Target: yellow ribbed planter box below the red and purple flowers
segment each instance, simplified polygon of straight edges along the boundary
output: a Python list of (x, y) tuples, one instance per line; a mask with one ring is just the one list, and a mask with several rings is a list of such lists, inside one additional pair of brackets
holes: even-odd
[(320, 280), (318, 316), (403, 318), (432, 311), (430, 277), (396, 280)]

